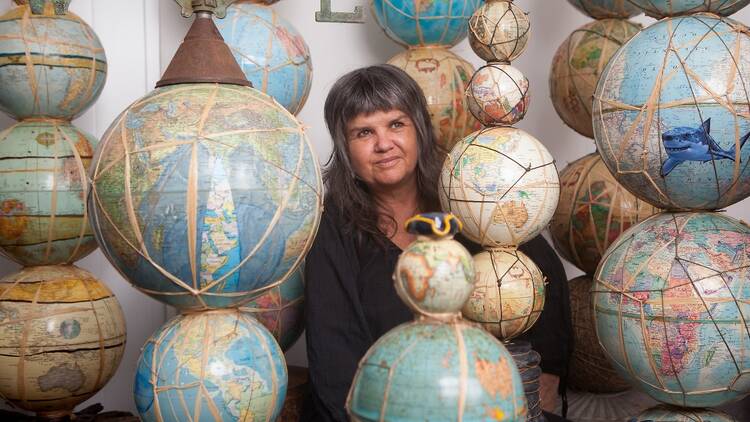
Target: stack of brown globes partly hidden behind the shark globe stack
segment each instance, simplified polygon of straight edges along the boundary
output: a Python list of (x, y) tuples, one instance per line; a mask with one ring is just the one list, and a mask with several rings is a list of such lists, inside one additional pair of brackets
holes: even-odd
[[(641, 26), (628, 18), (641, 11), (627, 0), (569, 2), (596, 20), (574, 30), (558, 47), (550, 69), (550, 97), (566, 125), (593, 138), (591, 108), (599, 75), (614, 52), (640, 30)], [(620, 186), (595, 152), (563, 169), (560, 185), (560, 203), (550, 234), (560, 255), (586, 273), (569, 282), (575, 342), (569, 382), (584, 394), (625, 391), (629, 384), (617, 376), (593, 335), (590, 275), (611, 242), (658, 209), (638, 201)], [(575, 414), (578, 409), (572, 411)]]

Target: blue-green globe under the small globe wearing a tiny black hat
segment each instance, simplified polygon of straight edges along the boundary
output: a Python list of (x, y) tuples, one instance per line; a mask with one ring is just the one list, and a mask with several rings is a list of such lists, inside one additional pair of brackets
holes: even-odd
[(352, 421), (525, 422), (513, 357), (481, 328), (434, 320), (400, 325), (359, 365), (349, 390)]

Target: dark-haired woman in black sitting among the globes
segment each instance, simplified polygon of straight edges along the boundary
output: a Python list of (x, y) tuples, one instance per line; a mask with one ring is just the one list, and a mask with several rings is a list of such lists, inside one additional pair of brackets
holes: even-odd
[[(325, 212), (305, 267), (312, 398), (304, 421), (348, 420), (344, 404), (359, 360), (380, 336), (413, 319), (391, 276), (399, 254), (415, 239), (404, 222), (440, 209), (437, 180), (445, 158), (421, 89), (393, 66), (358, 69), (340, 78), (326, 99), (325, 120), (333, 153), (323, 174)], [(529, 243), (547, 264), (534, 253), (531, 258), (564, 287), (554, 251), (541, 237)], [(567, 290), (558, 296), (548, 294), (548, 301), (567, 305)], [(564, 375), (570, 330), (554, 324), (569, 322), (569, 313), (566, 320), (565, 306), (556, 310), (545, 310), (540, 323), (549, 314), (553, 325), (547, 331), (561, 331), (552, 333), (547, 354), (557, 375)]]

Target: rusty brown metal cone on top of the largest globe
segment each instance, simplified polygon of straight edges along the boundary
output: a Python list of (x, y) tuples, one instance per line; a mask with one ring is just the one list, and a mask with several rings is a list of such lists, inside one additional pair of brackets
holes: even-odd
[(156, 87), (189, 83), (252, 86), (232, 56), (210, 13), (195, 15), (193, 25)]

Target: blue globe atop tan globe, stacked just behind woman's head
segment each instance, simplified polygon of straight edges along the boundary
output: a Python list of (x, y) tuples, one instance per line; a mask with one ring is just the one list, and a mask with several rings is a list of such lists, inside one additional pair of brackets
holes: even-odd
[(481, 0), (371, 0), (373, 14), (393, 41), (408, 49), (388, 64), (417, 81), (444, 151), (479, 128), (464, 91), (474, 68), (449, 50), (466, 37), (466, 22)]

